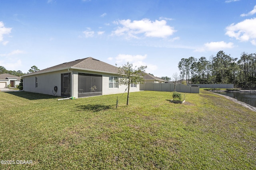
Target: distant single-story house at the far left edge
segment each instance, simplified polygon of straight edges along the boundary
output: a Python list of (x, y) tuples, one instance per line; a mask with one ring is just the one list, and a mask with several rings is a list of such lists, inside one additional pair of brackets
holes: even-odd
[(7, 88), (10, 84), (10, 87), (15, 87), (16, 85), (20, 84), (20, 77), (14, 76), (11, 74), (0, 74), (0, 88)]

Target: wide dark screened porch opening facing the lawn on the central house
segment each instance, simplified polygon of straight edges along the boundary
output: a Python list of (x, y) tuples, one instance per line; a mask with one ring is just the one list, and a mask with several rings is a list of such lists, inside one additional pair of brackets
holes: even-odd
[(102, 75), (78, 73), (78, 98), (102, 95)]

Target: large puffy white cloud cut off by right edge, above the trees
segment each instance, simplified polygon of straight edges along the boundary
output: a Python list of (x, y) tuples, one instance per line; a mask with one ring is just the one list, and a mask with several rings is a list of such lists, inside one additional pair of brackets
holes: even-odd
[(247, 19), (237, 24), (232, 23), (226, 27), (225, 35), (234, 37), (240, 41), (256, 39), (256, 18)]

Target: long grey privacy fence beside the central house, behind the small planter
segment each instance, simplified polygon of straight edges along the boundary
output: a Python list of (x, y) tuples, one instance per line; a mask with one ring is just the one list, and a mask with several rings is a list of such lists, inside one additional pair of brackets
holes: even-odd
[[(144, 83), (144, 84), (140, 84), (140, 90), (173, 92), (174, 84), (173, 83)], [(176, 84), (175, 91), (184, 92), (184, 93), (199, 93), (199, 87), (186, 86), (184, 84)]]

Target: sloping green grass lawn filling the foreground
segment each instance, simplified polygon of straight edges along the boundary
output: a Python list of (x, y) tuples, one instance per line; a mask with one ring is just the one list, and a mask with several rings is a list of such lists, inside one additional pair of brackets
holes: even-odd
[[(0, 92), (0, 169), (256, 169), (256, 112), (200, 90), (76, 100)], [(182, 93), (182, 96), (184, 94)], [(32, 160), (32, 164), (16, 164)]]

